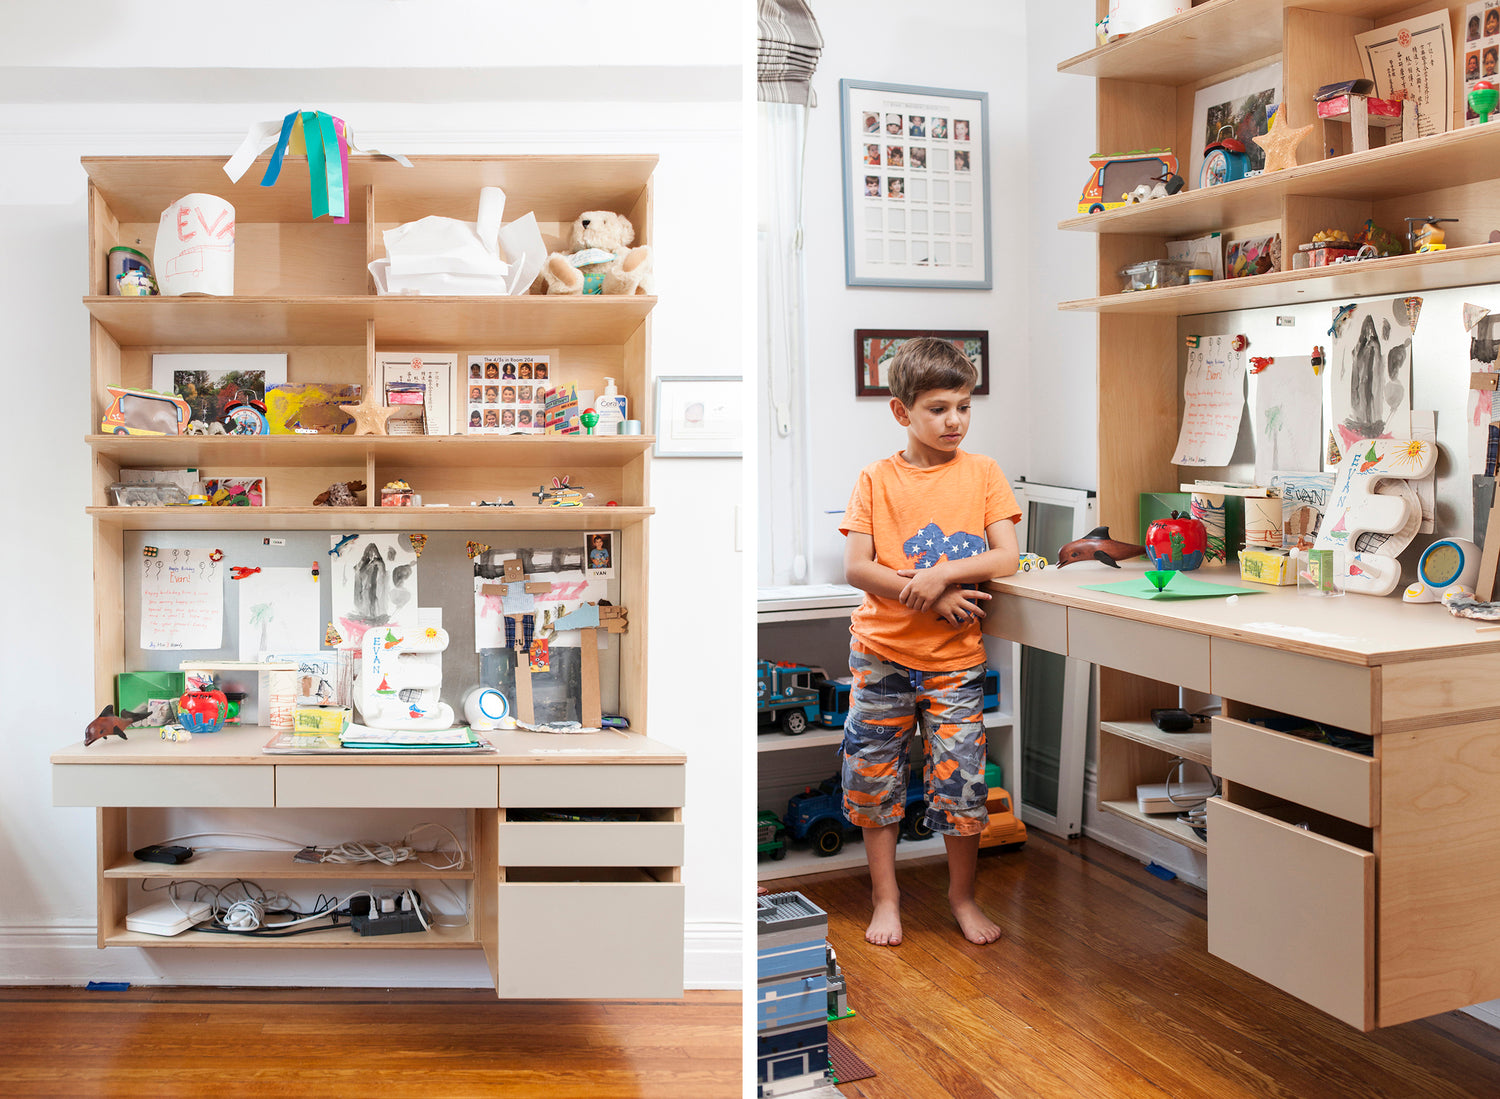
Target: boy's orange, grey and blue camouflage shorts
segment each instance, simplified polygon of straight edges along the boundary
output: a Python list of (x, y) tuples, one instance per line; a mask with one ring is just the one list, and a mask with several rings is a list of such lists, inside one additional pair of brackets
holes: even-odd
[(902, 820), (908, 753), (916, 723), (926, 741), (927, 823), (944, 835), (978, 835), (984, 808), (984, 666), (918, 672), (873, 652), (849, 651), (854, 688), (843, 739), (844, 813), (861, 828)]

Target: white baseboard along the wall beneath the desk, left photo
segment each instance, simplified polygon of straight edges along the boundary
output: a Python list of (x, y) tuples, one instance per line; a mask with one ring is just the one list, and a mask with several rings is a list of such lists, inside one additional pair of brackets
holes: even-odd
[[(742, 988), (742, 930), (688, 924), (682, 946), (687, 990)], [(140, 949), (94, 945), (93, 924), (0, 927), (0, 985), (238, 985), (334, 988), (489, 988), (480, 951)]]

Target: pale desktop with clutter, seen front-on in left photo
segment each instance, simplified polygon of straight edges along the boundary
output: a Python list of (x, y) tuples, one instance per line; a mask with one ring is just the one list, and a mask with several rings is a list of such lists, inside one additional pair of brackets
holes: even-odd
[(687, 757), (678, 748), (638, 733), (532, 733), (524, 729), (501, 729), (483, 736), (495, 745), (494, 753), (366, 753), (350, 750), (340, 754), (262, 753), (272, 730), (262, 726), (224, 729), (202, 733), (184, 744), (162, 741), (154, 729), (128, 729), (129, 739), (110, 736), (84, 748), (82, 741), (52, 753), (52, 763), (260, 763), (267, 766), (468, 766), (494, 768), (568, 763), (682, 763)]

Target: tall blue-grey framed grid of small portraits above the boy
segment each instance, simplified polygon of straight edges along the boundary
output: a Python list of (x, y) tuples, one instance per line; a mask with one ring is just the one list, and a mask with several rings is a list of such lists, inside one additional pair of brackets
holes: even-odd
[(844, 282), (990, 289), (988, 94), (838, 81)]

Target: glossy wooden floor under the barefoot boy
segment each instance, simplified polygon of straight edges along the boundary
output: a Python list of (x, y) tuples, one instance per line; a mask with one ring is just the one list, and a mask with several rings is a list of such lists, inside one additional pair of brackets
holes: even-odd
[(1371, 1035), (1206, 952), (1204, 894), (1088, 840), (1035, 829), (986, 855), (972, 946), (942, 858), (900, 864), (904, 943), (864, 942), (862, 870), (766, 883), (828, 912), (855, 1018), (831, 1026), (879, 1074), (861, 1099), (1500, 1096), (1500, 1030), (1450, 1012)]

